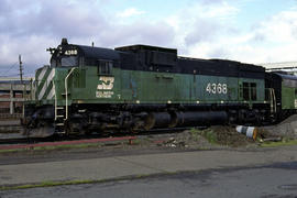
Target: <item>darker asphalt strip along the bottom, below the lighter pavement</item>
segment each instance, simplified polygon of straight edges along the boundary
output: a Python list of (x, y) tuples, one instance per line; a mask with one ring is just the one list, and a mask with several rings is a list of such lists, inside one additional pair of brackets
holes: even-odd
[(0, 197), (294, 198), (297, 197), (297, 162), (187, 172), (103, 184), (0, 191)]

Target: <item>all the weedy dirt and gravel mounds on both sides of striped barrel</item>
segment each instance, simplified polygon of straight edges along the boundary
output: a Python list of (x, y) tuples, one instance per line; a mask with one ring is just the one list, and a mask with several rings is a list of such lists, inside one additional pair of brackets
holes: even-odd
[(216, 125), (205, 130), (191, 129), (179, 133), (140, 136), (136, 144), (140, 146), (158, 146), (176, 148), (255, 148), (263, 142), (284, 142), (297, 140), (297, 114), (289, 117), (277, 125), (255, 128), (256, 139), (250, 139), (239, 133), (235, 127)]

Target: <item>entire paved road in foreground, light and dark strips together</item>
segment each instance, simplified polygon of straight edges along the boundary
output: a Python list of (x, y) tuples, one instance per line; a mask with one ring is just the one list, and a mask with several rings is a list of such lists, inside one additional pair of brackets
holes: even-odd
[(1, 154), (0, 187), (158, 176), (0, 191), (0, 197), (238, 197), (240, 191), (244, 193), (240, 197), (297, 197), (297, 146), (255, 151), (103, 151)]

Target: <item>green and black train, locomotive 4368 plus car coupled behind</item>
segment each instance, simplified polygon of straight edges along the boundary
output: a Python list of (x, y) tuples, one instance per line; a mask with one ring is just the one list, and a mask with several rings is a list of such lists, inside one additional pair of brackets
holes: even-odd
[[(211, 124), (263, 124), (297, 109), (297, 77), (177, 50), (68, 44), (35, 73), (22, 125), (28, 134), (89, 134)], [(46, 136), (45, 135), (45, 136)]]

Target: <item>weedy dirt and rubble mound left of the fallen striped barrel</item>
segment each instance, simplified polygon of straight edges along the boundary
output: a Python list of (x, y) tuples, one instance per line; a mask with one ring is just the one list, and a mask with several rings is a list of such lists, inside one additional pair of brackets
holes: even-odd
[(162, 147), (216, 150), (226, 147), (255, 147), (256, 142), (240, 134), (231, 127), (211, 127), (205, 130), (191, 129), (178, 133), (139, 136), (139, 146), (157, 145)]

